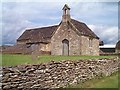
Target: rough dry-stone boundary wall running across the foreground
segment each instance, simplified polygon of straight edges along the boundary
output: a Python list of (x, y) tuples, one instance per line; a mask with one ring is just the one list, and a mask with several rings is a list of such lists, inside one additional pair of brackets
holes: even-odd
[(2, 88), (59, 88), (118, 70), (116, 59), (66, 60), (37, 65), (3, 67)]

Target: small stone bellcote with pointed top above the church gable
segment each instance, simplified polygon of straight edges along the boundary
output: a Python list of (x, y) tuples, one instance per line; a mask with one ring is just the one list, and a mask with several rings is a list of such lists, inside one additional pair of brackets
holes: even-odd
[(63, 16), (62, 16), (62, 22), (70, 21), (70, 8), (67, 4), (63, 7)]

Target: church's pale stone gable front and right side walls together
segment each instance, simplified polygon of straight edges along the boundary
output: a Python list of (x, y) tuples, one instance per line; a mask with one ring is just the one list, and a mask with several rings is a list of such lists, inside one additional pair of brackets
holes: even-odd
[(99, 40), (92, 38), (92, 47), (89, 46), (89, 36), (79, 35), (70, 23), (61, 23), (51, 39), (51, 54), (63, 55), (64, 39), (69, 41), (69, 55), (99, 55)]

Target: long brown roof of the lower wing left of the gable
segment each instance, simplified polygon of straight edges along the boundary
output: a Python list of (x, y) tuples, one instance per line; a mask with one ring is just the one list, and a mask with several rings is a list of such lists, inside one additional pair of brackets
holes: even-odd
[(20, 40), (30, 40), (30, 42), (49, 42), (53, 32), (57, 29), (58, 25), (42, 27), (42, 28), (33, 28), (26, 30), (18, 39)]

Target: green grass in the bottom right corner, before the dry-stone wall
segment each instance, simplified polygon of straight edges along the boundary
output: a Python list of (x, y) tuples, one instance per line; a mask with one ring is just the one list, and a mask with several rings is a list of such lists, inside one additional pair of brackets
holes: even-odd
[(118, 88), (118, 74), (120, 74), (120, 72), (108, 77), (88, 80), (77, 85), (70, 85), (68, 88)]

